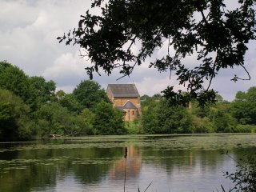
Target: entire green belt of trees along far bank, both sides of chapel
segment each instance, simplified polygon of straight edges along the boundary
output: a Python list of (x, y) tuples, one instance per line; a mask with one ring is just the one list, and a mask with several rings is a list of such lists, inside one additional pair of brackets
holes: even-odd
[[(191, 107), (188, 107), (191, 106)], [(106, 91), (84, 80), (71, 94), (53, 81), (30, 77), (0, 62), (0, 141), (29, 141), (50, 134), (200, 134), (250, 133), (256, 130), (256, 87), (238, 91), (233, 102), (221, 95), (200, 108), (197, 102), (176, 106), (160, 94), (142, 96), (142, 117), (123, 122)]]

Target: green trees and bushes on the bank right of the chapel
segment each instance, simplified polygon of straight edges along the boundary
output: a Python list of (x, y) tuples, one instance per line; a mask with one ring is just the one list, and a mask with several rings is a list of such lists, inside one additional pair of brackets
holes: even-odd
[(159, 94), (142, 96), (142, 130), (147, 134), (202, 134), (256, 132), (256, 87), (238, 91), (233, 102), (221, 95), (216, 103), (198, 107), (174, 106)]

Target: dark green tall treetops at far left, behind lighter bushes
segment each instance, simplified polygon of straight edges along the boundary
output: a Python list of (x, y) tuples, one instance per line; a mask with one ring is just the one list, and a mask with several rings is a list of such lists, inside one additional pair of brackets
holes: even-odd
[(46, 82), (42, 77), (29, 77), (9, 62), (0, 62), (0, 88), (22, 98), (31, 110), (37, 110), (43, 103), (55, 99), (55, 82)]

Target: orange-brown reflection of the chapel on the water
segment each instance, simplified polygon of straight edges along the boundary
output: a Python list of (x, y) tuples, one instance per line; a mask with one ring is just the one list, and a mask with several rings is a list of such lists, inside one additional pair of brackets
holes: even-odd
[(142, 167), (142, 151), (134, 146), (128, 146), (124, 149), (124, 157), (110, 167), (110, 180), (136, 178)]

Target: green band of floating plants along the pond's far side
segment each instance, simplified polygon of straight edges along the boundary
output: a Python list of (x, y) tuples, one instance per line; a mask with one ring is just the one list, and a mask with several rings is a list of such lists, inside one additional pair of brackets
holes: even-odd
[(177, 135), (121, 135), (65, 138), (62, 142), (27, 143), (1, 149), (0, 153), (15, 150), (68, 150), (83, 148), (114, 148), (133, 144), (139, 147), (154, 147), (170, 150), (187, 149), (230, 149), (234, 147), (256, 146), (256, 134), (177, 134)]

